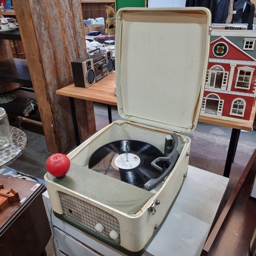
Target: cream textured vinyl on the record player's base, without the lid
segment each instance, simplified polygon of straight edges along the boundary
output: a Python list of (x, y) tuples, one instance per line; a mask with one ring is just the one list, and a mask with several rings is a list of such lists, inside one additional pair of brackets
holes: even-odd
[[(93, 135), (90, 139), (79, 145), (68, 155), (68, 157), (71, 159), (71, 162), (81, 166), (86, 166), (90, 156), (97, 150), (97, 148), (111, 141), (120, 139), (136, 139), (146, 141), (157, 146), (161, 151), (163, 151), (164, 139), (168, 134), (170, 134), (170, 132), (155, 129), (153, 127), (146, 127), (126, 121), (116, 121), (106, 126), (104, 129)], [(81, 195), (71, 189), (61, 186), (53, 182), (46, 175), (45, 180), (52, 209), (58, 214), (63, 213), (58, 191), (82, 200), (94, 207), (97, 207), (98, 209), (101, 209), (102, 211), (108, 212), (118, 220), (120, 226), (119, 235), (121, 246), (130, 251), (138, 251), (142, 249), (147, 241), (152, 237), (155, 231), (155, 225), (160, 225), (168, 208), (174, 202), (175, 197), (181, 188), (183, 176), (187, 172), (189, 157), (186, 156), (186, 154), (189, 153), (190, 150), (190, 139), (182, 135), (178, 135), (178, 138), (178, 151), (180, 153), (180, 157), (172, 173), (168, 176), (159, 191), (150, 200), (148, 200), (136, 214), (124, 214), (115, 208), (92, 200), (86, 195)], [(73, 182), (76, 181), (74, 180)], [(156, 214), (153, 216), (152, 214), (148, 213), (147, 209), (150, 207), (152, 202), (155, 202), (157, 199), (160, 200), (161, 203), (157, 206)], [(88, 226), (89, 224), (92, 225), (91, 223), (88, 223)]]

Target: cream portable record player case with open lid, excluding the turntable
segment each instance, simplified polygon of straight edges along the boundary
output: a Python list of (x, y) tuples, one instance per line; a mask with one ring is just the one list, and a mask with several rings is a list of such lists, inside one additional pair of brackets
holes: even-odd
[[(131, 255), (151, 242), (175, 202), (188, 168), (190, 139), (204, 92), (210, 43), (206, 8), (125, 8), (116, 16), (118, 120), (75, 148), (61, 179), (45, 175), (54, 215)], [(87, 89), (84, 89), (87, 90)], [(179, 159), (152, 191), (89, 169), (91, 155), (117, 140), (140, 140), (162, 152), (178, 135)]]

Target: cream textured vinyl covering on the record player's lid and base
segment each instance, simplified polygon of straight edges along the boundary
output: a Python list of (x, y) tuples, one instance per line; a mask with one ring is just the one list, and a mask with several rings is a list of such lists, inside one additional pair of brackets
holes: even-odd
[[(71, 162), (87, 166), (97, 148), (116, 140), (145, 141), (163, 152), (168, 131), (193, 131), (204, 91), (209, 27), (210, 12), (205, 8), (120, 9), (115, 46), (118, 112), (123, 118), (149, 126), (116, 121), (75, 148), (68, 155)], [(172, 173), (136, 214), (124, 214), (56, 184), (46, 175), (53, 210), (63, 213), (58, 191), (69, 194), (115, 217), (120, 226), (120, 245), (130, 251), (141, 250), (155, 225), (164, 219), (187, 172), (190, 139), (182, 135), (178, 138), (180, 157)], [(156, 214), (149, 214), (148, 207), (157, 199), (161, 203)]]

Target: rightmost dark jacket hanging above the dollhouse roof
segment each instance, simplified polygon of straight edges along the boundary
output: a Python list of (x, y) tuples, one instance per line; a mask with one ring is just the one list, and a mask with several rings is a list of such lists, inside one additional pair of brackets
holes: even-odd
[(247, 29), (252, 30), (253, 16), (254, 4), (250, 0), (234, 0), (232, 23), (247, 23)]

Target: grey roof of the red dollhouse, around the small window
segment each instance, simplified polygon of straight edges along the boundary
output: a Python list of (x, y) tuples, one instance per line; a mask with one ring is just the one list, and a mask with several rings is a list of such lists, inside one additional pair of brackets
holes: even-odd
[(211, 36), (211, 39), (210, 41), (211, 42), (214, 42), (216, 41), (217, 39), (219, 38), (225, 38), (227, 40), (229, 40), (233, 45), (235, 45), (237, 48), (239, 48), (241, 51), (247, 53), (249, 56), (251, 56), (253, 59), (256, 60), (256, 49), (251, 51), (251, 50), (243, 50), (243, 47), (244, 47), (244, 39), (245, 38), (255, 38), (256, 39), (256, 36), (245, 36), (245, 35), (239, 35), (239, 36), (221, 36), (221, 35), (212, 35)]

